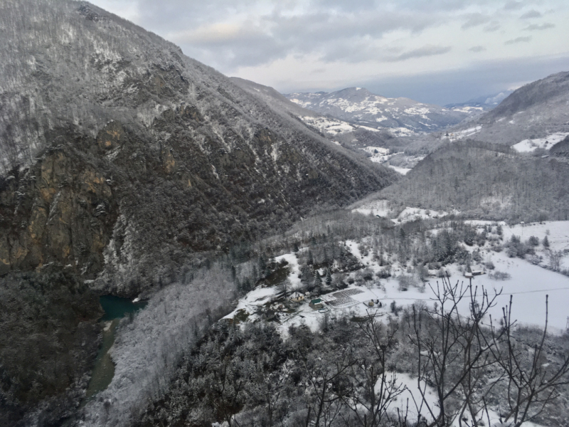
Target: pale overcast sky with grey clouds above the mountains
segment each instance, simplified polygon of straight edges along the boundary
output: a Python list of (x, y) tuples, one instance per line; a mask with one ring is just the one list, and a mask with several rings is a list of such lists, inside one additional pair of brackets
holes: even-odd
[(362, 86), (444, 105), (569, 70), (569, 1), (91, 0), (281, 93)]

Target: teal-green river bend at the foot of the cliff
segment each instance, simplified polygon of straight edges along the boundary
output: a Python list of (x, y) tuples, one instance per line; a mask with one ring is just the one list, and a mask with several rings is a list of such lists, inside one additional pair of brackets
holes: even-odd
[(95, 367), (93, 367), (85, 395), (86, 400), (95, 396), (99, 391), (105, 390), (115, 375), (115, 364), (112, 363), (109, 350), (115, 342), (115, 333), (119, 321), (127, 315), (133, 315), (134, 312), (147, 305), (145, 301), (132, 302), (128, 298), (113, 295), (103, 295), (99, 298), (99, 302), (102, 309), (105, 310), (105, 315), (99, 320), (103, 325), (102, 346), (97, 354), (97, 359), (95, 359)]

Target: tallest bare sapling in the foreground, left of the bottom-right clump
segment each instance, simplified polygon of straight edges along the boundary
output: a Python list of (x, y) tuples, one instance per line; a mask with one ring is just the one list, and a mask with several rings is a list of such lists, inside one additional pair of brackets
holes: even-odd
[[(474, 391), (483, 385), (484, 370), (496, 364), (484, 339), (482, 320), (501, 292), (489, 297), (484, 288), (473, 288), (472, 282), (452, 285), (448, 277), (431, 289), (434, 308), (413, 305), (408, 317), (413, 331), (409, 338), (418, 358), (421, 399), (414, 402), (417, 413), (430, 415), (432, 421), (427, 426), (450, 426), (457, 417), (461, 426), (464, 420), (469, 420), (468, 426), (479, 426), (489, 389), (482, 395)], [(459, 305), (465, 300), (470, 307), (467, 316), (459, 314)], [(435, 388), (435, 405), (426, 399), (427, 384)]]

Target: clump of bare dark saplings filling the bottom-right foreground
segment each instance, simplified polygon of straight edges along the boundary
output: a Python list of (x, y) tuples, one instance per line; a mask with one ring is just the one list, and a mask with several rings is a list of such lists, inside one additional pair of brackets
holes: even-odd
[[(487, 402), (493, 394), (499, 399), (505, 395), (506, 401), (506, 408), (499, 407), (496, 426), (520, 427), (543, 413), (560, 396), (560, 386), (569, 384), (569, 355), (556, 365), (545, 357), (548, 298), (543, 332), (535, 343), (527, 345), (514, 338), (512, 297), (502, 309), (501, 325), (496, 326), (489, 310), (501, 291), (489, 296), (481, 289), (472, 282), (452, 285), (448, 277), (442, 278), (432, 287), (433, 309), (413, 305), (408, 337), (418, 359), (417, 426), (451, 426), (456, 420), (461, 427), (491, 425)], [(465, 303), (470, 307), (467, 316), (459, 313), (459, 305)], [(486, 315), (489, 323), (484, 324)], [(488, 371), (494, 373), (491, 380), (485, 377)], [(435, 389), (435, 404), (426, 397), (427, 385)], [(425, 414), (430, 421), (422, 416)]]

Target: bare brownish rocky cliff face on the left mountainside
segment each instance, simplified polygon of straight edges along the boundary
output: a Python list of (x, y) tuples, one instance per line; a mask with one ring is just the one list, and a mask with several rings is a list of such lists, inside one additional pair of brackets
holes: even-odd
[(13, 173), (0, 191), (0, 275), (56, 262), (92, 278), (116, 218), (112, 179), (63, 146)]

